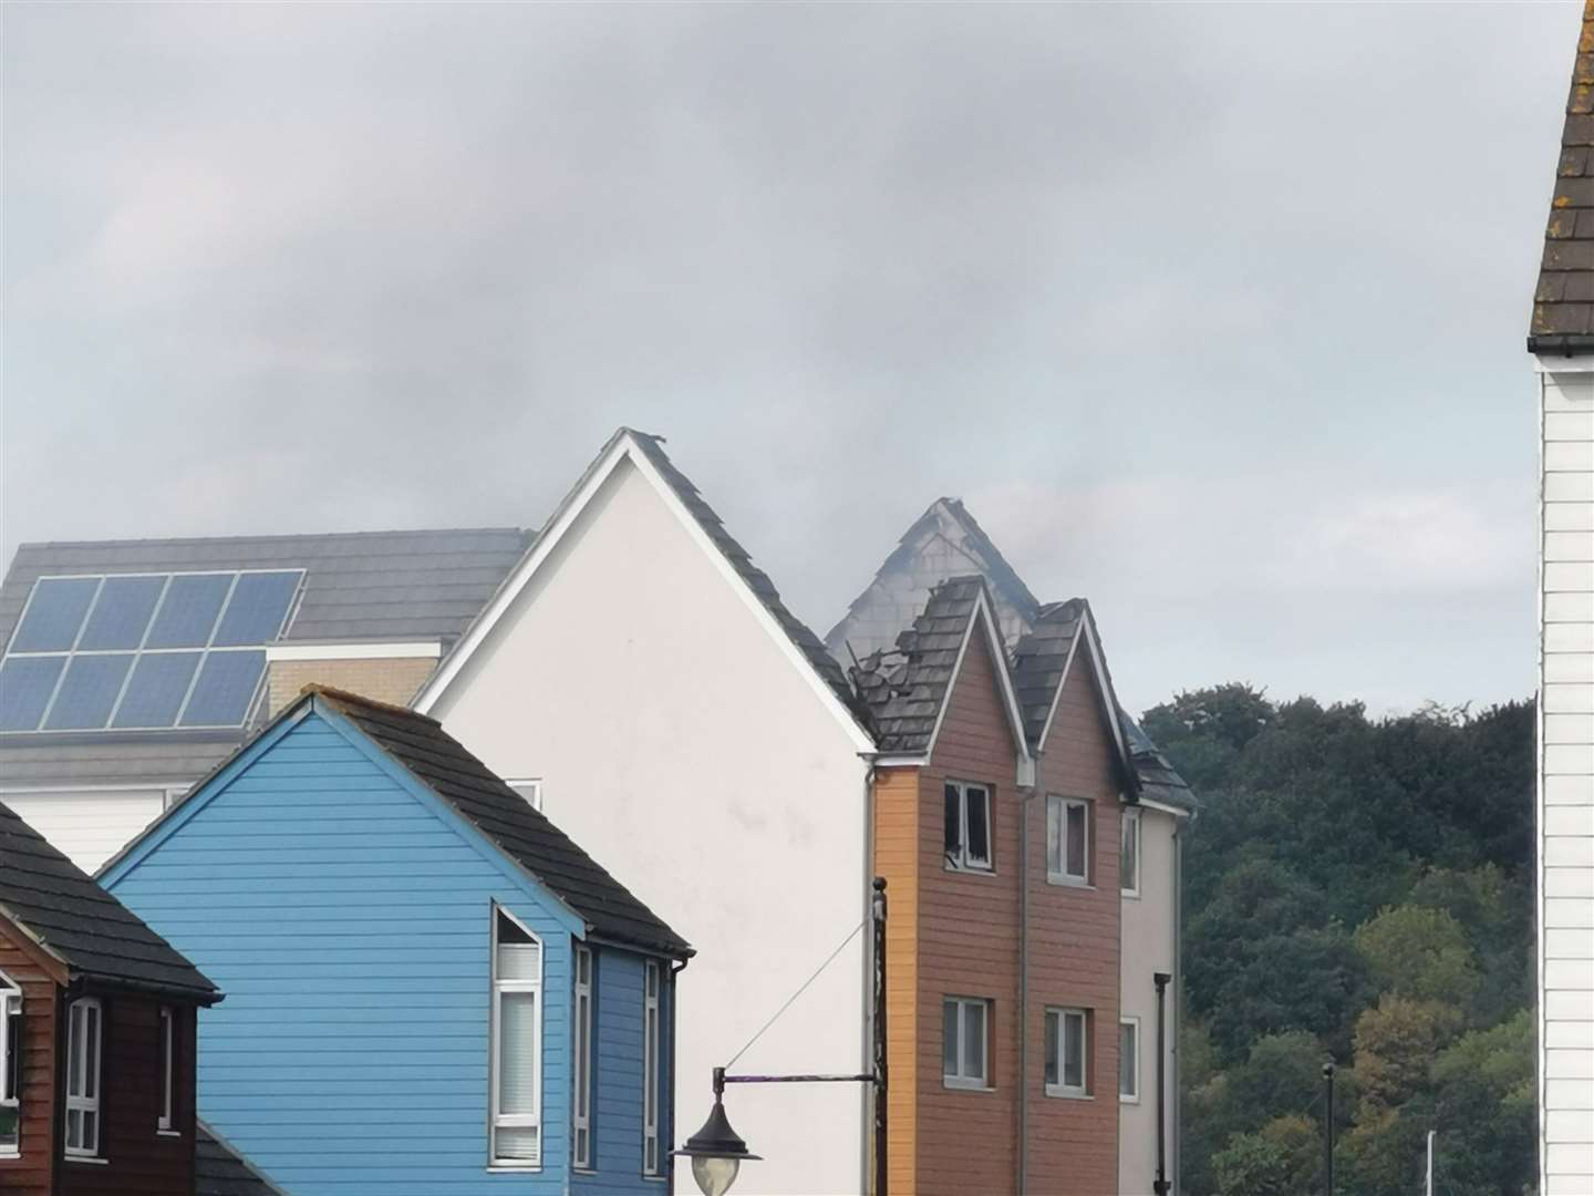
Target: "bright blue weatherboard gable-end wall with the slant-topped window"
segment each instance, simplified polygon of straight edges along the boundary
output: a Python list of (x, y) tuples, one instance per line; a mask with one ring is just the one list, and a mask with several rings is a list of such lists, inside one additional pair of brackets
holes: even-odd
[[(199, 1025), (201, 1115), (295, 1196), (566, 1191), (580, 923), (347, 724), (268, 732), (104, 879), (226, 993)], [(486, 1166), (494, 901), (544, 946), (531, 1174)], [(639, 989), (617, 1021), (639, 1056)], [(636, 1174), (598, 1166), (606, 1191)]]

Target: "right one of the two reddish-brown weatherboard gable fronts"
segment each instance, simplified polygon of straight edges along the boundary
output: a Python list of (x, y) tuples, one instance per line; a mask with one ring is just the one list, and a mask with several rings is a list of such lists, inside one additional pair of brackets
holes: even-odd
[[(1081, 654), (1058, 697), (1046, 749), (1036, 764), (1030, 823), (1028, 1186), (1047, 1196), (1117, 1191), (1119, 789), (1100, 692)], [(1047, 882), (1047, 794), (1093, 801), (1090, 888)], [(1047, 1006), (1092, 1013), (1087, 1100), (1044, 1092)]]

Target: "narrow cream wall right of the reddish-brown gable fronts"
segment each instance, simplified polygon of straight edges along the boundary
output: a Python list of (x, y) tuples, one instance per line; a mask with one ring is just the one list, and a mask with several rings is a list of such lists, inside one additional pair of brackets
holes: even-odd
[[(1152, 976), (1178, 976), (1176, 885), (1173, 834), (1184, 820), (1141, 807), (1140, 896), (1124, 896), (1119, 1009), (1140, 1019), (1140, 1100), (1119, 1105), (1117, 1190), (1122, 1196), (1151, 1196), (1157, 1177), (1157, 987)], [(1178, 1088), (1173, 1068), (1178, 1025), (1178, 992), (1168, 986), (1164, 1011), (1167, 1027), (1165, 1142), (1168, 1180), (1176, 1182), (1175, 1123)]]

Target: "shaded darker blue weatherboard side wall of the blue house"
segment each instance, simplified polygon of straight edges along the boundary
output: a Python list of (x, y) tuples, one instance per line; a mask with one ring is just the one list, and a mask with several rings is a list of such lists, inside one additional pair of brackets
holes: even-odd
[[(582, 1193), (652, 1193), (663, 1191), (663, 1180), (642, 1177), (642, 968), (644, 962), (630, 952), (598, 947), (598, 984), (593, 990), (596, 1019), (593, 1022), (593, 1169), (577, 1172), (572, 1183)], [(666, 993), (660, 1003), (660, 1067), (669, 1065), (669, 963), (660, 960), (660, 979)], [(706, 1083), (705, 1083), (706, 1088)], [(658, 1150), (665, 1161), (671, 1148), (668, 1094), (660, 1089)]]

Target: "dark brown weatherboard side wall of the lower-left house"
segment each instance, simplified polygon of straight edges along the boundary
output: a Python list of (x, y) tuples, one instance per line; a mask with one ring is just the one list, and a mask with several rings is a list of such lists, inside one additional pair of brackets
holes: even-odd
[(183, 1196), (194, 1185), (193, 1051), (194, 1009), (177, 1005), (174, 1094), (175, 1135), (156, 1132), (159, 1118), (158, 1000), (97, 995), (104, 1008), (100, 1156), (104, 1164), (64, 1161), (62, 1196)]

